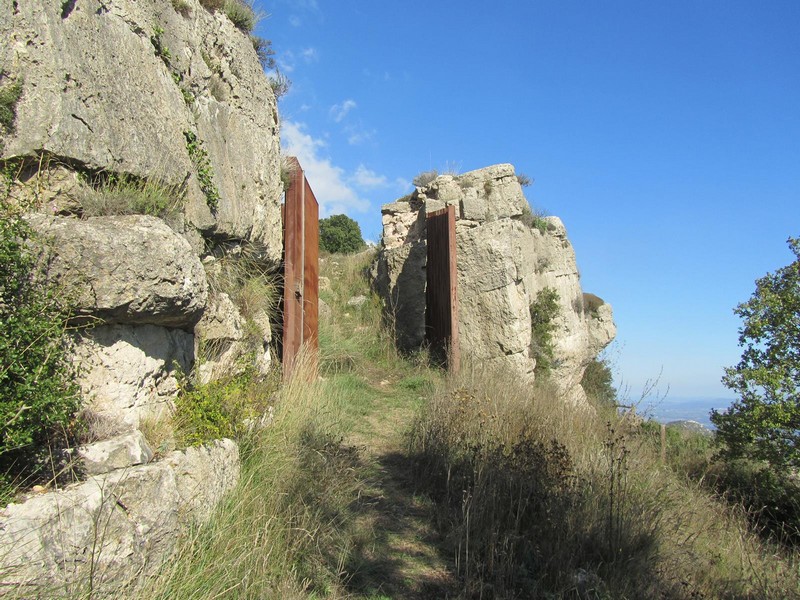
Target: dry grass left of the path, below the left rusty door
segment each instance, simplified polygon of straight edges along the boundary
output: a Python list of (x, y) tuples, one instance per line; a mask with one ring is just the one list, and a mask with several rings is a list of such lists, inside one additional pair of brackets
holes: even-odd
[(335, 553), (347, 547), (337, 539), (346, 530), (337, 514), (358, 482), (329, 422), (342, 398), (310, 382), (309, 369), (301, 358), (271, 426), (245, 444), (242, 480), (214, 520), (182, 542), (137, 598), (336, 596)]

